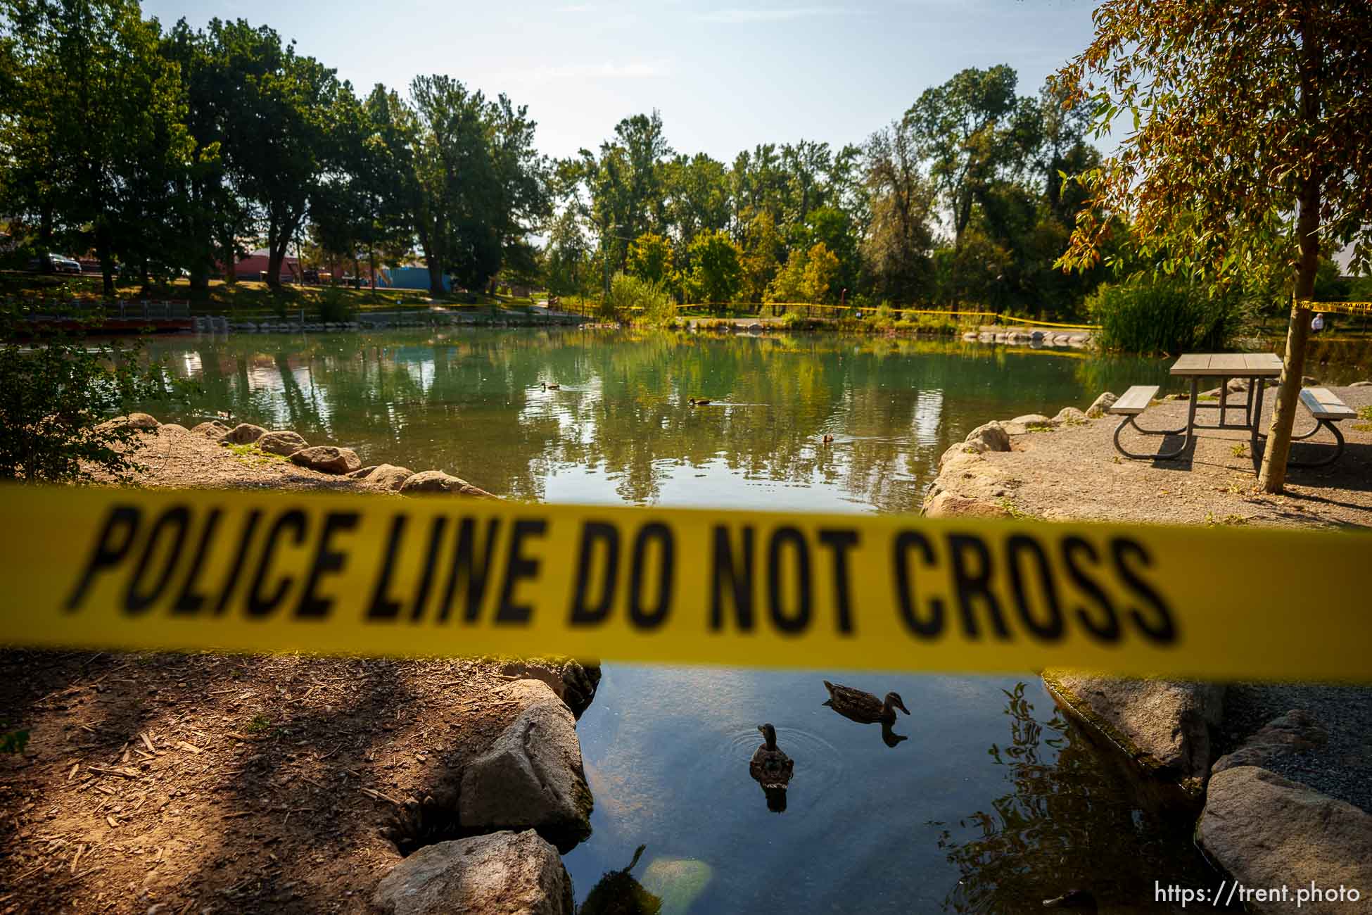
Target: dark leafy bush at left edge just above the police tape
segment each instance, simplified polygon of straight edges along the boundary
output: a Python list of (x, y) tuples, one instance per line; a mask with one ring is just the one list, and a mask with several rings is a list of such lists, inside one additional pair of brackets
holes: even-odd
[(128, 480), (139, 469), (128, 450), (144, 431), (111, 420), (185, 383), (145, 362), (137, 342), (92, 342), (27, 317), (0, 305), (0, 479), (89, 480), (100, 468)]

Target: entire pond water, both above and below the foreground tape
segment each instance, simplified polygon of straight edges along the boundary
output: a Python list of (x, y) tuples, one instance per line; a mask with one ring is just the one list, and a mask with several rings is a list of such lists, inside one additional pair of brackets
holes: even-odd
[[(150, 405), (163, 421), (230, 410), (528, 499), (838, 512), (916, 510), (943, 451), (986, 420), (1168, 384), (1166, 361), (819, 335), (241, 335), (151, 350), (204, 388), (180, 410)], [(908, 739), (825, 708), (822, 678), (900, 693)], [(748, 771), (764, 722), (796, 767), (781, 813)], [(1144, 912), (1169, 911), (1154, 881), (1217, 882), (1191, 820), (1140, 798), (1030, 671), (611, 664), (578, 730), (594, 835), (565, 861), (587, 912), (654, 899), (663, 912), (1037, 912), (1072, 889)], [(634, 881), (615, 875), (639, 845)], [(597, 908), (631, 890), (649, 907)]]

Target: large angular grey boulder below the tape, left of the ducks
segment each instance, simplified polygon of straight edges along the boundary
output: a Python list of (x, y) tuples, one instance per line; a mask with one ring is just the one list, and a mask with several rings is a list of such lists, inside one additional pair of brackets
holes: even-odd
[(560, 701), (525, 708), (462, 772), (462, 826), (527, 829), (564, 855), (591, 834), (576, 719)]

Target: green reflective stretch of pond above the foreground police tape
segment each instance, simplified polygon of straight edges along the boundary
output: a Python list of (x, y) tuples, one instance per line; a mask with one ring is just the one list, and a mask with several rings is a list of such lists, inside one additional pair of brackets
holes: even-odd
[(986, 418), (1166, 379), (1158, 362), (1109, 361), (1084, 383), (1095, 362), (1080, 354), (819, 335), (395, 331), (150, 350), (204, 390), (169, 421), (229, 410), (516, 498), (830, 510), (911, 510), (938, 455)]

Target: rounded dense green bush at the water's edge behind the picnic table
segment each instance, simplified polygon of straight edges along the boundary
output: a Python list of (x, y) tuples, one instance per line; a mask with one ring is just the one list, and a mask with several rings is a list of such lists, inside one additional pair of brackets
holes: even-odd
[(1236, 296), (1210, 296), (1200, 287), (1144, 274), (1102, 285), (1087, 307), (1100, 325), (1100, 347), (1122, 353), (1220, 350), (1242, 324)]

